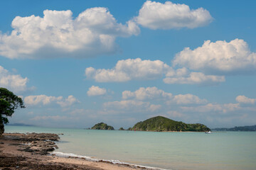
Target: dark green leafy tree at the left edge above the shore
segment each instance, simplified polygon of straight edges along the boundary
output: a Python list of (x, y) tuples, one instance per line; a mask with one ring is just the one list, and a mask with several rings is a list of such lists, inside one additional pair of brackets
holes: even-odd
[(13, 92), (0, 88), (0, 135), (4, 133), (4, 124), (9, 123), (7, 116), (14, 114), (14, 110), (25, 108), (20, 97)]

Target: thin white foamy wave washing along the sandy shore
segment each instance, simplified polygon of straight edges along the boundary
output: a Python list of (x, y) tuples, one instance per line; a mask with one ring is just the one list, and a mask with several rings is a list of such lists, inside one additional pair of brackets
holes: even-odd
[(110, 163), (110, 164), (125, 165), (125, 166), (129, 166), (129, 167), (132, 167), (132, 168), (153, 169), (153, 170), (167, 170), (167, 169), (161, 169), (161, 168), (156, 168), (156, 167), (151, 167), (151, 166), (142, 166), (142, 165), (137, 165), (137, 164), (129, 164), (127, 162), (120, 162), (119, 160), (96, 159), (96, 158), (87, 157), (87, 156), (81, 156), (81, 155), (72, 154), (72, 153), (51, 152), (50, 154), (51, 155), (55, 155), (57, 157), (80, 158), (80, 159), (85, 159), (87, 161), (92, 161), (92, 162), (107, 162), (107, 163)]

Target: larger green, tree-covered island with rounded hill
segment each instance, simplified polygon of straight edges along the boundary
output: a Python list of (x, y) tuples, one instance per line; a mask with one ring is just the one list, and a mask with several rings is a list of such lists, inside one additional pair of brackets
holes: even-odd
[(210, 131), (210, 128), (200, 123), (186, 124), (183, 122), (171, 120), (169, 118), (164, 118), (163, 116), (156, 116), (154, 118), (144, 120), (143, 122), (136, 123), (134, 127), (129, 128), (129, 130), (155, 132), (208, 132)]

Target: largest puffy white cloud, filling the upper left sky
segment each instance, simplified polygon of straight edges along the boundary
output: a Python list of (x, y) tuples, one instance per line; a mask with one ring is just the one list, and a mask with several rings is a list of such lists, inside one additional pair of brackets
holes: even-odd
[(117, 37), (138, 35), (136, 23), (117, 23), (107, 8), (87, 8), (73, 19), (67, 11), (16, 16), (11, 34), (0, 34), (0, 55), (14, 58), (92, 57), (115, 52)]

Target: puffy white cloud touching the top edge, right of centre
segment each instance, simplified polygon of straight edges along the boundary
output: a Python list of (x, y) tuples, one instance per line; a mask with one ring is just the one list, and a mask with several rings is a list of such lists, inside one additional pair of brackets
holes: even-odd
[(191, 10), (186, 4), (173, 4), (171, 1), (166, 1), (165, 4), (146, 1), (135, 20), (146, 28), (166, 30), (206, 26), (213, 21), (213, 18), (204, 8)]

